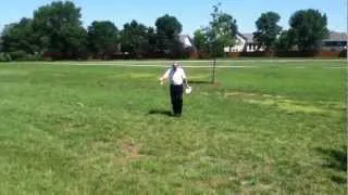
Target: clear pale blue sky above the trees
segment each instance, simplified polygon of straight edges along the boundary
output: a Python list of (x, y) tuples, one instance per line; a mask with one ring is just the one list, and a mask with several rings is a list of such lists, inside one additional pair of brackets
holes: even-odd
[[(212, 5), (222, 3), (222, 10), (237, 20), (239, 31), (254, 31), (254, 22), (266, 11), (281, 16), (279, 25), (288, 28), (288, 18), (300, 9), (316, 9), (326, 13), (328, 28), (336, 31), (347, 29), (347, 0), (72, 0), (82, 8), (84, 26), (92, 21), (109, 20), (122, 28), (124, 23), (137, 20), (154, 26), (159, 16), (174, 15), (183, 24), (183, 34), (191, 35), (210, 21)], [(0, 6), (0, 29), (21, 17), (32, 17), (38, 6), (51, 0), (9, 0)]]

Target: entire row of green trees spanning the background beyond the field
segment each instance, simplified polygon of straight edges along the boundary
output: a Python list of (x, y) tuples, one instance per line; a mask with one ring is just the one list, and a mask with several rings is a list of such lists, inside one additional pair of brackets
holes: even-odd
[[(95, 21), (83, 27), (80, 8), (72, 1), (54, 1), (34, 11), (33, 18), (23, 17), (4, 26), (0, 37), (0, 61), (188, 57), (195, 49), (208, 56), (223, 56), (224, 47), (237, 42), (237, 21), (213, 6), (207, 27), (195, 31), (196, 48), (184, 48), (179, 40), (183, 25), (175, 16), (157, 18), (154, 27), (132, 21), (119, 29), (110, 21)], [(262, 13), (253, 32), (258, 48), (266, 51), (314, 51), (327, 37), (327, 18), (316, 10), (300, 10), (289, 20), (290, 28), (282, 30), (281, 16)]]

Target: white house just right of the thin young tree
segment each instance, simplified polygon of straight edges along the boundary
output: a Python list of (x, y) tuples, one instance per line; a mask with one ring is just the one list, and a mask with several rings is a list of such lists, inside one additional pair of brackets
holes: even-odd
[[(258, 50), (258, 46), (253, 41), (252, 34), (237, 32), (236, 38), (236, 44), (234, 47), (224, 48), (225, 52), (254, 52)], [(259, 51), (264, 51), (264, 49), (260, 48)]]

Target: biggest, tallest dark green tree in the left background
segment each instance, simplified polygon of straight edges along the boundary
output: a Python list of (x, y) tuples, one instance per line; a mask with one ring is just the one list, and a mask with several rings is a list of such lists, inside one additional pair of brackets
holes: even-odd
[(87, 31), (80, 9), (72, 1), (54, 1), (34, 12), (33, 27), (42, 51), (74, 57), (86, 48)]

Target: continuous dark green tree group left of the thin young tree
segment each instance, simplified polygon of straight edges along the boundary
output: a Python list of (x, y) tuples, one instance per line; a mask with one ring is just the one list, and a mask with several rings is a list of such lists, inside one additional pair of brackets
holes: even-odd
[(4, 26), (0, 58), (107, 60), (121, 53), (129, 58), (185, 57), (188, 53), (179, 43), (182, 24), (167, 14), (157, 18), (156, 28), (132, 21), (122, 30), (110, 21), (95, 21), (85, 29), (80, 18), (80, 8), (71, 1), (40, 6), (33, 18)]

